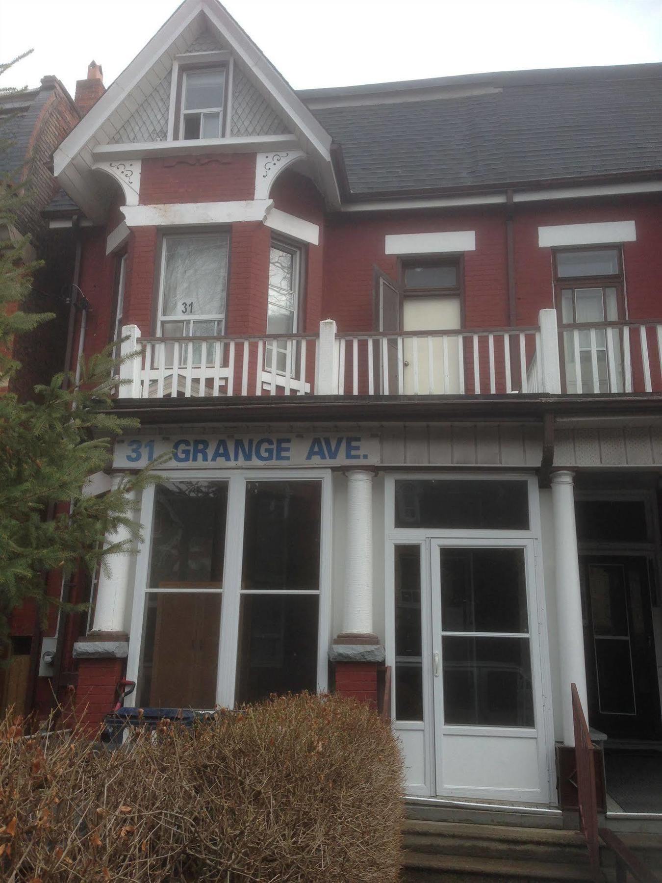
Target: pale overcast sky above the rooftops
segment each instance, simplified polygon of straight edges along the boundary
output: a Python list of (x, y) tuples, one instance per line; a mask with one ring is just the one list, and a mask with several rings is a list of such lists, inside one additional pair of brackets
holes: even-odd
[[(55, 74), (107, 86), (178, 0), (0, 0), (0, 86)], [(226, 0), (295, 88), (662, 61), (662, 0)]]

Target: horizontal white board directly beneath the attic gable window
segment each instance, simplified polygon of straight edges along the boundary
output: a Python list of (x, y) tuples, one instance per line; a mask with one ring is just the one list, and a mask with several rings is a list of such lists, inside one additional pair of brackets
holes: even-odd
[(267, 150), (298, 147), (296, 135), (252, 135), (247, 138), (206, 138), (201, 141), (136, 141), (132, 144), (100, 144), (95, 160), (148, 159), (152, 156), (200, 154), (257, 154)]

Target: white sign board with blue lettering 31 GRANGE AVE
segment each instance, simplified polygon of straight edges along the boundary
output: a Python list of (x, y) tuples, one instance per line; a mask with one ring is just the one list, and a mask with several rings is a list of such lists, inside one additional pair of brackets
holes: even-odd
[(139, 469), (170, 454), (163, 469), (233, 466), (371, 465), (380, 460), (376, 435), (185, 435), (117, 439), (115, 469)]

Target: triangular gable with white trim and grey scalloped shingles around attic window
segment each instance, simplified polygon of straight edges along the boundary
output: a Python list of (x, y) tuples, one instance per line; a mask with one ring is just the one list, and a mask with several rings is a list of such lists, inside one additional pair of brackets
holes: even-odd
[[(161, 141), (168, 116), (164, 98), (169, 96), (175, 57), (192, 48), (209, 51), (217, 46), (229, 49), (239, 74), (240, 100), (233, 109), (229, 139), (223, 140), (226, 149), (232, 138), (254, 137), (256, 126), (275, 138), (291, 132), (316, 169), (327, 199), (337, 203), (328, 133), (218, 0), (184, 0), (56, 151), (56, 176), (87, 215), (101, 213), (92, 174), (98, 151), (117, 144), (118, 138), (129, 144)], [(208, 147), (214, 149), (211, 142)], [(167, 142), (159, 148), (167, 150)], [(256, 152), (264, 149), (268, 147), (256, 147)]]

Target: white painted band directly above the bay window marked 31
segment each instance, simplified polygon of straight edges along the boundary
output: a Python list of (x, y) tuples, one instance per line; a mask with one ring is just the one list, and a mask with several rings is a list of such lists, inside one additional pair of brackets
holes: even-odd
[(171, 227), (194, 224), (264, 221), (273, 200), (180, 202), (153, 206), (121, 206), (127, 227)]

